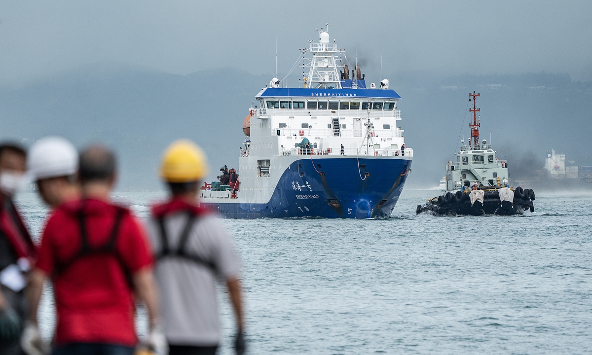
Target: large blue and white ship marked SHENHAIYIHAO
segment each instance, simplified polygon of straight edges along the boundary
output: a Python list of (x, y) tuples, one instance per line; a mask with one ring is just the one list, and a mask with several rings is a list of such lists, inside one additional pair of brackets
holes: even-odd
[(300, 87), (274, 78), (255, 96), (239, 166), (204, 183), (202, 205), (227, 218), (391, 215), (413, 160), (401, 96), (388, 80), (368, 87), (327, 29), (317, 32), (301, 50)]

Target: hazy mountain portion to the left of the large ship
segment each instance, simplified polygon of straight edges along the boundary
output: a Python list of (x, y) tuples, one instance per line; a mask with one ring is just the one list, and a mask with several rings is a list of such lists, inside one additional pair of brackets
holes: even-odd
[[(261, 85), (263, 83), (263, 85)], [(236, 69), (172, 75), (96, 63), (20, 88), (0, 88), (2, 137), (59, 134), (78, 146), (104, 142), (120, 156), (121, 189), (159, 189), (170, 141), (197, 141), (211, 162), (236, 166), (242, 123), (265, 79)]]

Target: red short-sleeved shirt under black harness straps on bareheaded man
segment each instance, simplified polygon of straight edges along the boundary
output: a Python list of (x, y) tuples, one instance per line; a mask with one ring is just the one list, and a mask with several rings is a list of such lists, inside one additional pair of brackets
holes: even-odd
[(85, 211), (88, 243), (95, 248), (107, 244), (117, 211), (123, 209), (94, 199), (72, 201), (60, 206), (47, 221), (36, 266), (52, 275), (56, 343), (135, 346), (134, 298), (123, 267), (133, 275), (152, 266), (147, 238), (130, 212), (123, 209), (115, 242), (119, 259), (113, 253), (91, 254), (61, 269), (60, 264), (81, 249), (77, 217), (81, 208)]

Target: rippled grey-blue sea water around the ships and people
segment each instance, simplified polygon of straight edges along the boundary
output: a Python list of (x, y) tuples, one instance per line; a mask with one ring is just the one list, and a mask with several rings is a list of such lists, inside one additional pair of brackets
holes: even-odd
[[(592, 353), (592, 195), (538, 193), (512, 217), (416, 216), (434, 193), (405, 190), (385, 219), (221, 220), (243, 263), (249, 353)], [(145, 218), (164, 195), (113, 197)], [(46, 206), (34, 193), (18, 205), (37, 239)], [(232, 354), (223, 286), (219, 353)], [(49, 286), (40, 313), (51, 338)]]

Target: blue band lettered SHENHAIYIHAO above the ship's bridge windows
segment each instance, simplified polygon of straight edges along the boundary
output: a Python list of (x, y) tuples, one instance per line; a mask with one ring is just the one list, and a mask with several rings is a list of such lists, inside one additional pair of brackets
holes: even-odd
[(255, 96), (256, 98), (278, 97), (347, 97), (347, 98), (379, 98), (400, 99), (394, 90), (378, 89), (304, 89), (304, 88), (267, 88)]

